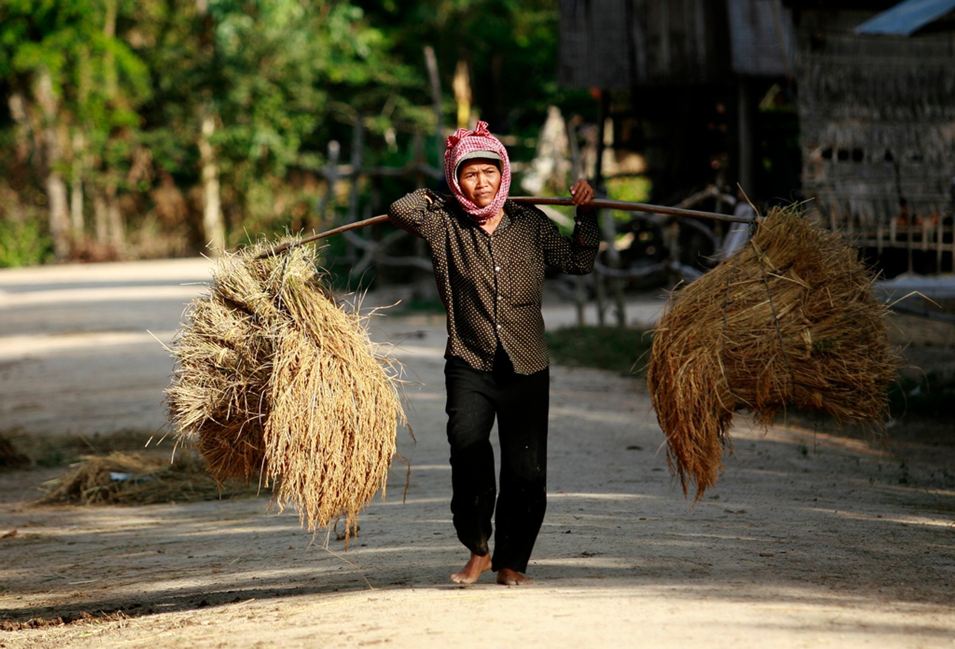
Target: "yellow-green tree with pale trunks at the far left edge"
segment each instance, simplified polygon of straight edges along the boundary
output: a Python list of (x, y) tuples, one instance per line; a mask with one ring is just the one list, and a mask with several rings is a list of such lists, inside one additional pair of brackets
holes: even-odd
[[(118, 213), (117, 178), (125, 178), (122, 167), (136, 146), (136, 107), (149, 95), (146, 68), (116, 37), (116, 23), (117, 0), (9, 0), (0, 7), (0, 78), (9, 89), (14, 139), (32, 154), (58, 259), (82, 237), (87, 182), (107, 188), (97, 230), (109, 230), (105, 220)], [(121, 239), (121, 231), (113, 237)]]

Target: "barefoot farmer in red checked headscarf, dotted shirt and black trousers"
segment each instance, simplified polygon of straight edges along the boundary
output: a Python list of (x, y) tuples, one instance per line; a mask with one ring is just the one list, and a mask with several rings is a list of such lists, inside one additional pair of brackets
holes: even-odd
[[(541, 210), (507, 200), (507, 151), (484, 122), (448, 137), (444, 172), (453, 200), (419, 189), (397, 200), (389, 218), (430, 244), (447, 310), (451, 512), (457, 537), (471, 551), (451, 580), (474, 583), (493, 570), (500, 584), (529, 584), (523, 573), (546, 506), (550, 379), (541, 317), (544, 264), (574, 275), (593, 269), (600, 235), (586, 203), (594, 193), (585, 180), (570, 188), (578, 214), (573, 235), (562, 237)], [(495, 417), (499, 493), (490, 442)]]

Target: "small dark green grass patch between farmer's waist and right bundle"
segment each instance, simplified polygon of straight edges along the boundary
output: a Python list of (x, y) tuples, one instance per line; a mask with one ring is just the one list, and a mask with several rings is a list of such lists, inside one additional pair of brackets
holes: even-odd
[(562, 366), (596, 367), (645, 376), (653, 341), (644, 329), (568, 326), (546, 333), (551, 360)]

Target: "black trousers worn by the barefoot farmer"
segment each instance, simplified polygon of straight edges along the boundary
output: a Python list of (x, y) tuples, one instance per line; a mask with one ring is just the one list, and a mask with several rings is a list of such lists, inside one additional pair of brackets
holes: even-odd
[[(523, 573), (546, 509), (550, 372), (545, 368), (518, 374), (499, 345), (493, 371), (449, 358), (444, 375), (454, 489), (451, 513), (457, 538), (471, 552), (487, 555), (493, 513), (492, 570)], [(499, 493), (490, 439), (495, 416), (501, 456)]]

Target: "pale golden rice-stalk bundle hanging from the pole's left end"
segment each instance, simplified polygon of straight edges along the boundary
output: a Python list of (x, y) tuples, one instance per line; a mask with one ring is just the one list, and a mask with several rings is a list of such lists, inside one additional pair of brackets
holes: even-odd
[[(259, 476), (309, 531), (353, 523), (385, 481), (404, 412), (368, 316), (331, 294), (310, 246), (225, 254), (187, 309), (166, 389), (180, 440), (217, 479)], [(350, 526), (349, 526), (350, 527)]]

